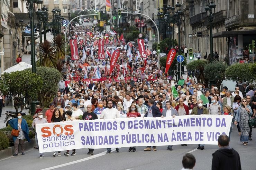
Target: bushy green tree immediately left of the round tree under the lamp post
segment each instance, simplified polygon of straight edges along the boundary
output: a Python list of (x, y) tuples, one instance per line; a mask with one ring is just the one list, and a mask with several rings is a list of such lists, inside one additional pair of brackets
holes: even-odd
[[(192, 72), (192, 76), (196, 83), (206, 83), (208, 84), (208, 80), (204, 77), (204, 68), (208, 64), (206, 60), (194, 60), (187, 64), (187, 70)], [(196, 78), (196, 79), (195, 79)]]

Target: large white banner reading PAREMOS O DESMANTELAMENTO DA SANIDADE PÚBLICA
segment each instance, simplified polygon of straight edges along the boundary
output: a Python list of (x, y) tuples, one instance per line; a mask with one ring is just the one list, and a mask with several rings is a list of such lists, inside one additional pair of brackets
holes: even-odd
[(40, 152), (175, 144), (218, 144), (230, 115), (118, 118), (36, 124)]

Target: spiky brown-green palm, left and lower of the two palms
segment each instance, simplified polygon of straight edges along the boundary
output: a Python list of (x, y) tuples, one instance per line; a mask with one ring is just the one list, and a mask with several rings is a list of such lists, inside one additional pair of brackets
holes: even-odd
[(44, 42), (41, 42), (37, 51), (37, 58), (42, 61), (41, 66), (56, 68), (57, 58), (55, 49), (49, 40), (46, 39)]

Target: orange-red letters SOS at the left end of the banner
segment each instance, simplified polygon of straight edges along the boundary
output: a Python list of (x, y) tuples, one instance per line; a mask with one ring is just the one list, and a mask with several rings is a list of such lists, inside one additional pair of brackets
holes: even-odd
[[(60, 128), (61, 132), (60, 133), (56, 133), (56, 129)], [(42, 134), (42, 137), (49, 137), (49, 136), (52, 136), (52, 133), (56, 136), (60, 136), (61, 134), (64, 134), (65, 135), (71, 135), (74, 133), (74, 130), (72, 129), (73, 126), (71, 124), (68, 124), (68, 125), (65, 125), (64, 128), (60, 125), (60, 124), (55, 124), (53, 126), (53, 129), (51, 129), (50, 127), (48, 126), (45, 126), (43, 128), (41, 128), (41, 132), (44, 133)]]

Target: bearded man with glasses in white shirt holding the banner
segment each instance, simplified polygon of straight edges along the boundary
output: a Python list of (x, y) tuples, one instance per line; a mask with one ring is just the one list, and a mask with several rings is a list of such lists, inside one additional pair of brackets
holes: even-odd
[[(112, 100), (107, 102), (108, 108), (104, 109), (100, 114), (100, 119), (116, 119), (120, 118), (120, 113), (117, 109), (113, 108)], [(116, 148), (116, 151), (119, 152), (119, 148)], [(111, 153), (111, 148), (107, 148), (106, 154)]]

